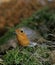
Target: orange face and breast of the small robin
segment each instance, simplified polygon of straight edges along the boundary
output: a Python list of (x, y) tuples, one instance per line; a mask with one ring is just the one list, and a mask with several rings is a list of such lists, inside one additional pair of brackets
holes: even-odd
[(27, 37), (27, 35), (20, 29), (16, 29), (16, 36), (17, 36), (17, 40), (18, 43), (22, 46), (28, 46), (30, 44), (30, 41)]

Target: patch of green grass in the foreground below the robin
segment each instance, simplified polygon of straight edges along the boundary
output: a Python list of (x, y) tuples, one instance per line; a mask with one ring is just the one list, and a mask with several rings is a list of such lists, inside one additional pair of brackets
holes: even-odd
[(50, 54), (47, 47), (18, 47), (16, 49), (7, 51), (6, 55), (3, 56), (3, 60), (5, 65), (43, 65), (43, 63), (46, 62), (46, 59), (48, 63), (50, 63), (48, 60), (49, 57)]

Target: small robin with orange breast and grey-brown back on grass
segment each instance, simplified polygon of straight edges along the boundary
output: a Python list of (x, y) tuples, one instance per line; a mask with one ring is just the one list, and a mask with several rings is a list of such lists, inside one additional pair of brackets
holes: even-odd
[[(18, 43), (24, 47), (25, 46), (34, 47), (38, 45), (37, 40), (41, 38), (38, 31), (36, 32), (35, 30), (32, 30), (29, 27), (17, 28), (15, 30), (15, 33)], [(40, 41), (43, 40), (44, 39), (41, 39)]]

